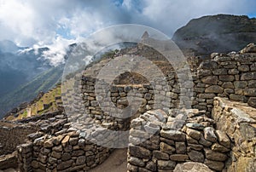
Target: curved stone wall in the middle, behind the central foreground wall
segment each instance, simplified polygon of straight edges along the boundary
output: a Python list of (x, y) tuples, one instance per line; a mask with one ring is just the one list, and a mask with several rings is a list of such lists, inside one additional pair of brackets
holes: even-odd
[[(144, 112), (161, 107), (168, 112), (171, 108), (177, 108), (179, 105), (178, 88), (175, 84), (175, 77), (169, 77), (169, 83), (172, 83), (171, 89), (166, 89), (164, 83), (149, 84), (113, 84), (110, 86), (108, 93), (103, 97), (101, 94), (96, 98), (96, 79), (91, 77), (83, 77), (81, 87), (84, 95), (85, 113), (90, 114), (90, 118), (94, 118), (97, 123), (102, 123), (104, 127), (114, 130), (125, 130), (130, 128), (131, 118), (113, 117), (114, 113), (123, 110), (123, 114), (132, 118), (137, 118)], [(102, 83), (104, 85), (106, 83)], [(103, 86), (102, 86), (103, 87)], [(153, 89), (155, 88), (155, 89)], [(155, 94), (161, 100), (156, 100)], [(137, 108), (131, 109), (129, 106), (133, 103)], [(113, 104), (113, 105), (111, 105)], [(126, 108), (126, 109), (125, 109)], [(129, 113), (129, 114), (128, 114)], [(130, 114), (131, 113), (131, 114)], [(108, 125), (108, 126), (107, 126)]]

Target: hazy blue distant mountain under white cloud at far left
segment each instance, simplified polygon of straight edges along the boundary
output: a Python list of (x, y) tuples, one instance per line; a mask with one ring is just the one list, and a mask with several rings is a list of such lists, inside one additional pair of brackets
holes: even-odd
[(10, 41), (0, 42), (0, 99), (51, 68), (47, 60), (40, 59), (47, 48), (24, 49)]

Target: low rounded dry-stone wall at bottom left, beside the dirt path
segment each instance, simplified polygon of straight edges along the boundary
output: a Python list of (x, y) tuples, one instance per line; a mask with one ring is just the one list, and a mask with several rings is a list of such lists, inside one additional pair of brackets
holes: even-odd
[(87, 171), (108, 158), (111, 149), (85, 140), (78, 131), (31, 135), (18, 147), (20, 171)]

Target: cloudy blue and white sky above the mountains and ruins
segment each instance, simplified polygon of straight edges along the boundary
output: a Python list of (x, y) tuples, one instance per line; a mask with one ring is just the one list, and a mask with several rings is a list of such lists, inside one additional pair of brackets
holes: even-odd
[(142, 24), (172, 37), (208, 14), (256, 16), (255, 0), (0, 0), (0, 40), (61, 49), (106, 26)]

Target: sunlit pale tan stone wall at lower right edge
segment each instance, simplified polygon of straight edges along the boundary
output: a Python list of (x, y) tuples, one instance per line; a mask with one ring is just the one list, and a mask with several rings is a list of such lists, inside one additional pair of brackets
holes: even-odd
[(217, 129), (231, 140), (228, 171), (253, 172), (256, 169), (256, 109), (222, 98), (214, 99), (212, 118)]

